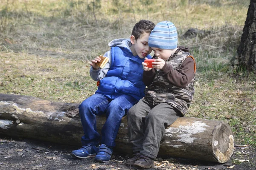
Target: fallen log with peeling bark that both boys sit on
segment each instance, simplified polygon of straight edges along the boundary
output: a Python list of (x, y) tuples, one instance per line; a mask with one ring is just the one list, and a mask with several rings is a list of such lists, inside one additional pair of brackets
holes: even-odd
[[(0, 134), (80, 147), (83, 131), (78, 106), (31, 96), (0, 94)], [(104, 116), (97, 116), (99, 132), (104, 122)], [(233, 149), (233, 133), (227, 123), (180, 117), (166, 128), (159, 155), (225, 163)], [(115, 150), (132, 154), (126, 117), (122, 119)]]

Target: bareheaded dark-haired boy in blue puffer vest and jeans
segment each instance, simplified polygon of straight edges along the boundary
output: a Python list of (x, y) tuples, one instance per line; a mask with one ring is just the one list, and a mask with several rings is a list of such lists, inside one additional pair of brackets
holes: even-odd
[[(72, 156), (95, 158), (103, 163), (110, 161), (122, 117), (144, 96), (141, 64), (145, 57), (152, 58), (148, 37), (154, 26), (149, 20), (140, 20), (130, 39), (109, 42), (111, 50), (104, 55), (109, 61), (104, 68), (96, 64), (101, 61), (99, 57), (91, 60), (90, 76), (99, 86), (94, 95), (79, 105), (84, 136), (81, 137), (82, 147), (73, 150)], [(100, 136), (96, 130), (96, 116), (102, 114), (107, 119)]]

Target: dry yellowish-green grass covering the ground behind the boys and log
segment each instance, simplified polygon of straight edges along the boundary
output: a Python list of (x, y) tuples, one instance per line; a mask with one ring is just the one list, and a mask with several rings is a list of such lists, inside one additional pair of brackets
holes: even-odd
[[(109, 41), (128, 38), (140, 19), (170, 20), (197, 62), (187, 116), (227, 122), (236, 144), (256, 147), (255, 73), (230, 64), (249, 1), (128, 0), (117, 7), (102, 0), (97, 23), (90, 2), (0, 0), (0, 93), (80, 103), (96, 91), (89, 62), (109, 50)], [(207, 34), (183, 38), (189, 28)]]

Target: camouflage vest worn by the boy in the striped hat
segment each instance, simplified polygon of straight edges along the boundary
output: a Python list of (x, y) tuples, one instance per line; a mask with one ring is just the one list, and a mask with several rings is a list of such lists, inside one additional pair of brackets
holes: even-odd
[[(176, 55), (171, 56), (166, 63), (172, 65), (172, 67), (178, 71), (187, 57), (192, 57), (192, 55), (189, 52), (179, 51)], [(192, 57), (192, 59), (194, 58)], [(150, 102), (152, 105), (166, 102), (180, 111), (184, 116), (195, 93), (194, 82), (195, 76), (186, 87), (179, 88), (163, 77), (162, 71), (155, 69), (154, 80), (152, 84), (145, 89), (145, 97), (143, 99)]]

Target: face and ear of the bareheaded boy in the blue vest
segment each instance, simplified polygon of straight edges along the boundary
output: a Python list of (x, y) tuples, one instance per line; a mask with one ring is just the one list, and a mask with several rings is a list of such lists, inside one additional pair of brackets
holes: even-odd
[(131, 36), (131, 43), (133, 48), (131, 49), (134, 56), (139, 56), (141, 59), (145, 58), (151, 53), (152, 49), (148, 46), (149, 33), (144, 33), (140, 38), (135, 40), (135, 37)]

